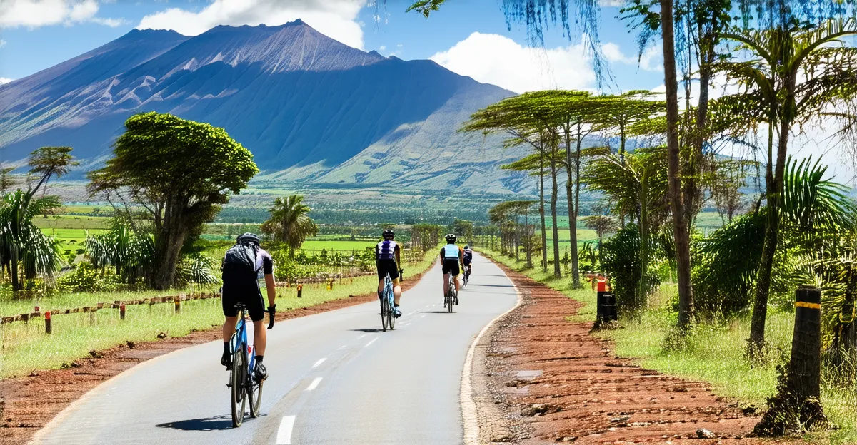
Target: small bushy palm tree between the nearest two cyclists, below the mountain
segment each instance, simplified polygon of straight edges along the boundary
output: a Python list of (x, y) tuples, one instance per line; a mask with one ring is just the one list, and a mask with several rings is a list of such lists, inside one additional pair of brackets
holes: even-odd
[(303, 204), (303, 195), (275, 199), (268, 210), (271, 217), (262, 223), (261, 230), (288, 246), (290, 257), (294, 256), (303, 240), (318, 233), (315, 221), (307, 215), (310, 210), (309, 205)]

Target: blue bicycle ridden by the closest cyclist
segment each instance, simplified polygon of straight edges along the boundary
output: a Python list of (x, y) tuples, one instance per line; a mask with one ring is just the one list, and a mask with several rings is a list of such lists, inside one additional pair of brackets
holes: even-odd
[[(247, 344), (247, 322), (244, 320), (247, 306), (244, 306), (243, 303), (237, 303), (235, 308), (238, 310), (239, 318), (235, 327), (235, 334), (232, 334), (229, 341), (232, 351), (232, 365), (229, 383), (226, 383), (226, 386), (231, 389), (233, 428), (241, 426), (244, 420), (244, 408), (248, 401), (250, 402), (250, 417), (255, 418), (259, 415), (262, 383), (264, 382), (256, 382), (253, 375), (256, 354), (255, 348)], [(273, 319), (271, 324), (273, 324)], [(248, 360), (249, 353), (253, 353), (253, 355)]]

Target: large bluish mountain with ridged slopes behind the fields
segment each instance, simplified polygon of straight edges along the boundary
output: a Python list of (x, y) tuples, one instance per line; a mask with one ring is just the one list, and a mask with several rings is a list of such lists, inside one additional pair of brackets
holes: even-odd
[(128, 116), (156, 110), (225, 128), (254, 153), (261, 182), (517, 193), (532, 181), (497, 167), (522, 153), (456, 131), (512, 94), (351, 48), (300, 20), (195, 37), (134, 30), (0, 86), (0, 156), (70, 145), (92, 169)]

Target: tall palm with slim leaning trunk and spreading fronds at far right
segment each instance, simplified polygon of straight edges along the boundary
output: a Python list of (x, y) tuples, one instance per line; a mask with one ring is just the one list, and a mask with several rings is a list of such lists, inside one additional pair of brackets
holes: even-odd
[[(762, 111), (758, 119), (768, 124), (768, 156), (765, 186), (768, 221), (753, 304), (750, 347), (764, 345), (771, 270), (779, 243), (780, 196), (788, 156), (788, 139), (795, 124), (830, 116), (830, 104), (857, 97), (857, 52), (842, 44), (843, 37), (857, 35), (857, 21), (829, 20), (806, 29), (784, 22), (772, 29), (723, 33), (755, 57), (746, 62), (723, 62), (717, 68), (739, 80), (747, 91), (738, 97)], [(801, 80), (802, 81), (799, 81)], [(776, 157), (774, 136), (777, 136)]]

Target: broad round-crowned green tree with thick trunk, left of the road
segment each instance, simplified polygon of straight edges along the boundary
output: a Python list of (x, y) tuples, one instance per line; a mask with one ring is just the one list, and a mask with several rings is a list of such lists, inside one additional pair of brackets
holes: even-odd
[(155, 111), (125, 121), (104, 168), (88, 175), (89, 192), (138, 205), (152, 218), (153, 288), (170, 288), (185, 241), (211, 221), (231, 193), (259, 169), (223, 128)]

